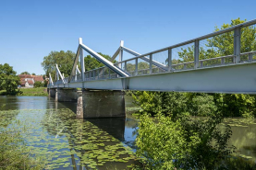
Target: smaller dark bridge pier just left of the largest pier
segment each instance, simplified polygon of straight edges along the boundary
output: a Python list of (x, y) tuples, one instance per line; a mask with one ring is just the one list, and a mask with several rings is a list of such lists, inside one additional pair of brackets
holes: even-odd
[(77, 98), (76, 88), (56, 88), (55, 101), (77, 101)]

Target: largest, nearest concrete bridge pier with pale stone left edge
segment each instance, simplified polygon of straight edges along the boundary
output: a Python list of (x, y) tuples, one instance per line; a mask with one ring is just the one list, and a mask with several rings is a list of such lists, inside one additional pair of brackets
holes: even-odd
[(84, 90), (78, 97), (77, 117), (114, 118), (126, 117), (125, 93), (122, 91)]

